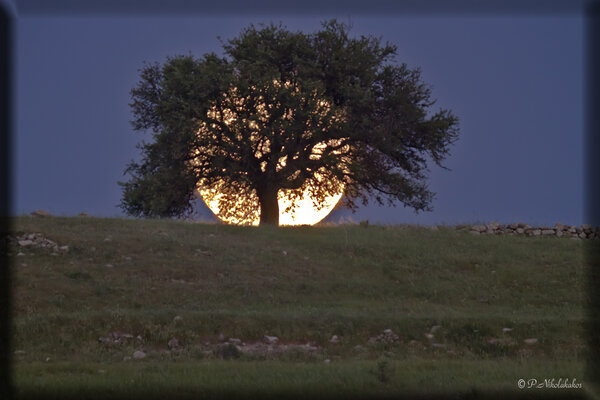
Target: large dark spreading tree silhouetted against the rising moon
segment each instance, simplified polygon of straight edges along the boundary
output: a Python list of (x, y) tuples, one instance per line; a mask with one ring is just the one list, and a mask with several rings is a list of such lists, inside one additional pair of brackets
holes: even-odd
[(332, 20), (312, 34), (250, 25), (223, 48), (141, 70), (132, 122), (154, 140), (120, 183), (128, 214), (181, 216), (198, 187), (222, 193), (223, 215), (260, 212), (261, 224), (278, 224), (280, 190), (431, 209), (427, 163), (444, 168), (458, 120), (430, 111), (430, 88), (393, 63), (394, 45)]

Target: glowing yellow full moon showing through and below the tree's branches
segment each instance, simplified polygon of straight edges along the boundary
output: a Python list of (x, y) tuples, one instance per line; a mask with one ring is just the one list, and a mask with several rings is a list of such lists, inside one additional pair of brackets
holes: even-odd
[[(290, 82), (281, 83), (278, 80), (273, 80), (273, 88), (292, 89), (292, 95), (299, 95), (299, 90)], [(268, 138), (260, 134), (261, 126), (269, 119), (270, 106), (267, 106), (264, 99), (266, 92), (257, 90), (258, 102), (255, 104), (257, 117), (255, 120), (249, 120), (238, 117), (238, 112), (243, 109), (245, 103), (250, 101), (250, 98), (244, 98), (238, 95), (237, 88), (231, 88), (228, 93), (224, 93), (224, 103), (217, 107), (215, 104), (207, 112), (207, 122), (201, 122), (198, 130), (198, 135), (217, 135), (216, 132), (222, 132), (223, 127), (226, 127), (230, 132), (234, 132), (237, 139), (242, 138), (242, 131), (249, 132), (249, 141), (252, 146), (252, 151), (256, 158), (269, 153), (270, 141)], [(316, 96), (316, 92), (313, 96)], [(324, 100), (317, 101), (316, 115), (324, 117), (331, 109), (329, 103)], [(283, 116), (284, 120), (294, 120), (294, 110), (288, 110)], [(340, 114), (332, 116), (329, 123), (335, 123), (343, 117)], [(319, 121), (317, 125), (307, 125), (305, 135), (312, 135), (313, 129), (326, 129), (326, 123)], [(285, 136), (285, 132), (281, 132)], [(226, 138), (224, 140), (227, 140)], [(314, 145), (309, 156), (310, 159), (319, 159), (323, 151), (328, 146), (338, 146), (339, 139), (330, 139), (325, 142), (320, 142)], [(334, 150), (334, 153), (347, 151), (347, 146)], [(200, 151), (196, 151), (194, 157), (201, 156)], [(227, 155), (229, 156), (229, 155)], [(287, 156), (280, 158), (277, 162), (277, 171), (286, 166)], [(192, 162), (193, 163), (193, 162)], [(266, 168), (266, 161), (261, 164), (263, 172)], [(312, 186), (311, 186), (312, 185)], [(329, 190), (328, 194), (323, 194), (323, 190), (318, 188), (334, 188)], [(338, 203), (342, 197), (344, 185), (341, 182), (326, 181), (322, 174), (318, 172), (314, 175), (312, 182), (307, 182), (302, 188), (295, 190), (280, 189), (277, 193), (279, 205), (279, 224), (280, 225), (313, 225), (325, 218)], [(317, 196), (316, 193), (320, 193)], [(207, 207), (222, 221), (237, 225), (259, 225), (260, 222), (260, 206), (258, 196), (255, 191), (246, 191), (245, 193), (232, 192), (232, 188), (224, 181), (216, 184), (205, 185), (202, 182), (198, 185), (198, 194), (204, 200)], [(317, 201), (317, 198), (319, 201)], [(225, 201), (223, 201), (225, 200)], [(226, 204), (227, 209), (221, 209), (221, 205)]]

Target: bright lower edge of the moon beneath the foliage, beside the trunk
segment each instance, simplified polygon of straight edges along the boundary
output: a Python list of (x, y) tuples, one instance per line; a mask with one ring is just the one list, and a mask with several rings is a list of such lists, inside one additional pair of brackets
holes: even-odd
[[(314, 199), (310, 195), (308, 189), (304, 190), (302, 196), (298, 199), (290, 198), (287, 190), (280, 190), (278, 193), (279, 204), (279, 224), (280, 225), (314, 225), (325, 218), (338, 203), (342, 197), (343, 188), (334, 195), (328, 196), (317, 207)], [(247, 219), (238, 219), (235, 217), (220, 217), (219, 216), (219, 199), (222, 194), (217, 189), (198, 188), (198, 194), (202, 197), (206, 206), (217, 216), (221, 221), (235, 225), (254, 225), (258, 226), (260, 222), (260, 212)], [(248, 199), (240, 199), (239, 203), (248, 201)], [(292, 207), (293, 205), (293, 207)]]

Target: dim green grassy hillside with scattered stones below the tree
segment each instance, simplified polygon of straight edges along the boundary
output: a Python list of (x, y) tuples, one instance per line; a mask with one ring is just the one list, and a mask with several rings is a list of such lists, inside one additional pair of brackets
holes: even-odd
[[(69, 246), (11, 250), (20, 397), (587, 393), (585, 241), (90, 217), (13, 229)], [(395, 340), (369, 341), (386, 329)], [(583, 389), (517, 388), (551, 378)]]

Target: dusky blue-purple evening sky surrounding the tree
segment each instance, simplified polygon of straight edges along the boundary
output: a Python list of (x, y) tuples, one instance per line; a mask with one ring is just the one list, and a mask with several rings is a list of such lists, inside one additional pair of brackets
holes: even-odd
[[(7, 1), (4, 1), (7, 3)], [(10, 3), (10, 2), (9, 2)], [(31, 1), (29, 2), (31, 3)], [(221, 52), (217, 36), (250, 23), (312, 32), (350, 22), (381, 36), (398, 62), (421, 67), (437, 107), (460, 120), (442, 170), (432, 165), (433, 212), (369, 205), (341, 215), (372, 223), (457, 224), (583, 220), (584, 18), (580, 13), (36, 14), (15, 20), (13, 208), (122, 216), (126, 164), (149, 134), (134, 132), (129, 91), (144, 61)], [(208, 217), (207, 211), (203, 218)]]

